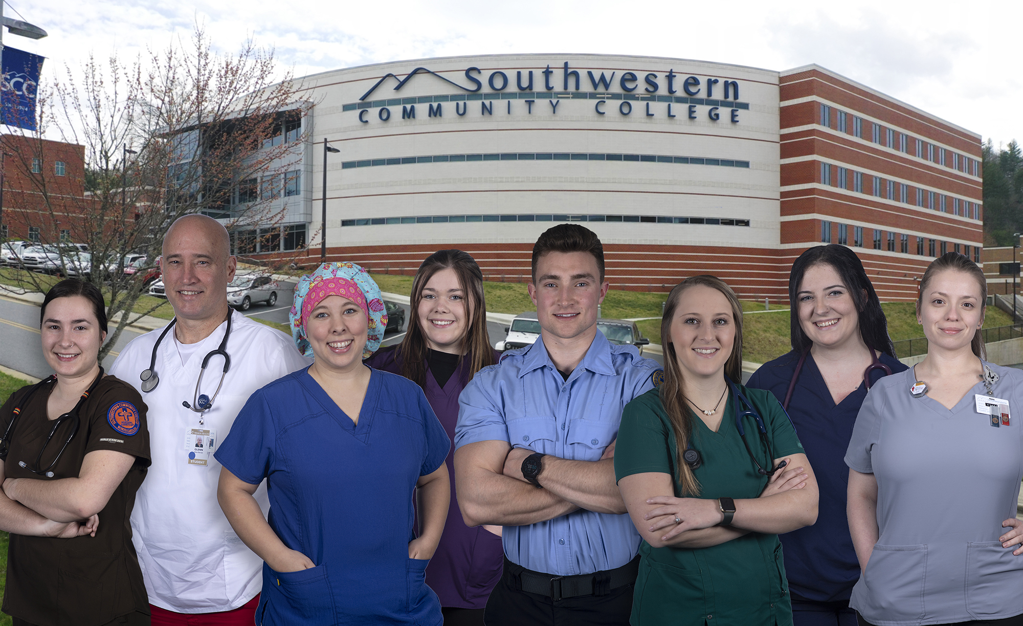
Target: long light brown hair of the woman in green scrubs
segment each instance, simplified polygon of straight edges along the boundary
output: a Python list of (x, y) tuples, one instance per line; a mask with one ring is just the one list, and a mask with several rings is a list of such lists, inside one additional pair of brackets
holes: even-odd
[(664, 406), (668, 418), (671, 419), (671, 428), (675, 431), (675, 447), (678, 458), (675, 459), (675, 466), (678, 469), (678, 482), (682, 486), (682, 495), (700, 495), (700, 483), (694, 476), (693, 469), (682, 458), (685, 449), (690, 446), (690, 436), (693, 433), (693, 420), (696, 415), (690, 410), (685, 403), (685, 394), (682, 392), (682, 370), (678, 366), (675, 346), (671, 343), (671, 322), (678, 311), (682, 293), (687, 288), (702, 285), (712, 289), (717, 289), (728, 299), (731, 305), (731, 316), (736, 324), (736, 343), (731, 346), (731, 354), (724, 363), (724, 375), (735, 383), (743, 381), (743, 306), (739, 304), (739, 298), (723, 280), (710, 274), (692, 276), (682, 280), (668, 295), (668, 301), (664, 307), (664, 317), (661, 318), (661, 346), (664, 347), (664, 383), (661, 385), (661, 404)]

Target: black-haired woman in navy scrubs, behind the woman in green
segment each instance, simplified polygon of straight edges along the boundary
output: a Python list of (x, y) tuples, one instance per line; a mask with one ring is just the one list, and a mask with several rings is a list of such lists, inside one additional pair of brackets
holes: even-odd
[(800, 255), (789, 274), (789, 301), (792, 352), (764, 363), (747, 385), (783, 402), (820, 488), (817, 523), (780, 535), (793, 622), (855, 626), (849, 596), (859, 563), (846, 521), (849, 471), (842, 458), (868, 387), (906, 367), (895, 359), (863, 264), (845, 245)]

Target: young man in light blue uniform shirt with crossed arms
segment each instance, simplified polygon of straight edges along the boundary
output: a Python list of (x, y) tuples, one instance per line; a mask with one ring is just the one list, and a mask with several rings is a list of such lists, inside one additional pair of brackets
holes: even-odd
[(615, 483), (614, 442), (622, 409), (661, 366), (597, 331), (609, 283), (592, 231), (550, 228), (532, 264), (540, 340), (480, 370), (459, 398), (462, 517), (504, 527), (485, 620), (627, 624), (640, 539)]

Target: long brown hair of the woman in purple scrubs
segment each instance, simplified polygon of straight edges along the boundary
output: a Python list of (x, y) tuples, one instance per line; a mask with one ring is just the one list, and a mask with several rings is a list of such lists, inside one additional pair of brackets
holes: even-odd
[(476, 372), (494, 364), (494, 351), (490, 347), (490, 336), (487, 334), (487, 306), (483, 297), (483, 272), (469, 254), (460, 250), (439, 250), (427, 257), (427, 260), (415, 272), (412, 279), (412, 297), (408, 326), (405, 339), (401, 341), (398, 350), (401, 352), (401, 375), (412, 381), (419, 387), (427, 386), (427, 336), (419, 324), (419, 303), (422, 301), (422, 289), (437, 272), (451, 268), (458, 276), (458, 285), (465, 295), (465, 312), (469, 314), (469, 324), (465, 326), (465, 337), (462, 348), (465, 354), (459, 357), (469, 359), (469, 367), (463, 373), (462, 383), (468, 383)]

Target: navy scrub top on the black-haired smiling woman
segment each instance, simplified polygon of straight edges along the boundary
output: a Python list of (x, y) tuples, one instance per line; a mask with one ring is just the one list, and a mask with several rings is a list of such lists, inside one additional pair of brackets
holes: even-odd
[[(798, 361), (799, 354), (790, 352), (764, 363), (750, 377), (747, 387), (766, 389), (779, 402), (784, 402)], [(892, 373), (907, 369), (887, 354), (881, 355), (881, 362)], [(881, 369), (871, 371), (871, 385), (884, 375)], [(864, 398), (866, 388), (860, 378), (859, 388), (836, 406), (813, 357), (806, 355), (788, 412), (813, 467), (820, 499), (816, 524), (779, 535), (785, 546), (789, 587), (796, 599), (848, 600), (859, 580), (859, 561), (852, 547), (845, 512), (849, 467), (844, 458)]]

